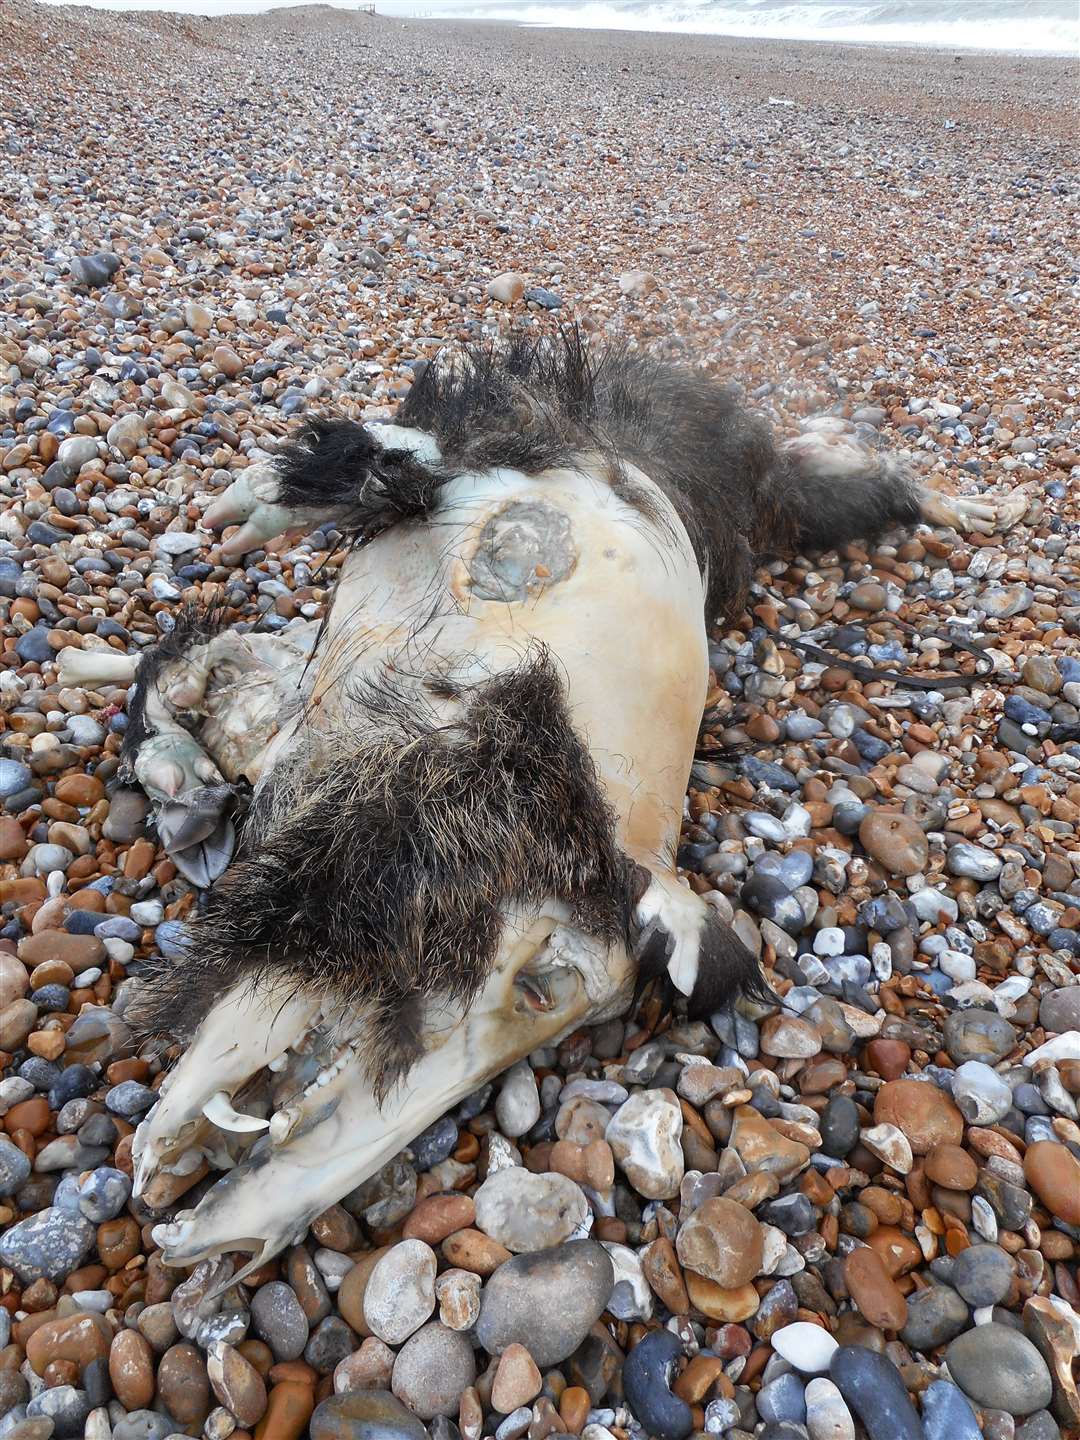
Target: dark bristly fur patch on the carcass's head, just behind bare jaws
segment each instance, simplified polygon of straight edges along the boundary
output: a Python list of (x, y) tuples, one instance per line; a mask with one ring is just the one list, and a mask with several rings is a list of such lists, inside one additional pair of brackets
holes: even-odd
[(190, 1035), (240, 978), (285, 976), (370, 1015), (383, 1096), (416, 1058), (420, 1002), (467, 1005), (484, 984), (507, 903), (554, 896), (628, 943), (629, 864), (541, 648), (465, 691), (451, 727), (393, 696), (380, 710), (389, 727), (312, 732), (274, 772), (190, 958), (150, 975), (140, 1024)]

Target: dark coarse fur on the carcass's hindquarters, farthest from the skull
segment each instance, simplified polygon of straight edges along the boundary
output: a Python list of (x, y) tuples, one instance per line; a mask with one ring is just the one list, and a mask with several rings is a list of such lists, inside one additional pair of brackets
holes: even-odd
[(648, 510), (648, 491), (621, 480), (625, 462), (674, 504), (708, 576), (710, 621), (739, 612), (757, 556), (870, 539), (917, 518), (901, 464), (865, 452), (861, 472), (838, 478), (778, 448), (768, 422), (713, 376), (625, 346), (595, 353), (576, 327), (436, 359), (396, 423), (433, 435), (441, 464), (395, 452), (393, 426), (380, 451), (361, 426), (320, 420), (279, 458), (282, 501), (372, 536), (435, 508), (439, 488), (465, 469), (537, 475), (599, 452), (629, 504)]

